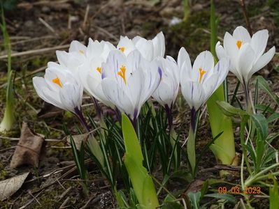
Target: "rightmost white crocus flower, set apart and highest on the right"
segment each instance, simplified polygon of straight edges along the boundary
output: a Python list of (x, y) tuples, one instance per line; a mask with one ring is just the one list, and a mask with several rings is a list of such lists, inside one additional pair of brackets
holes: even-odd
[(275, 47), (266, 50), (269, 31), (257, 31), (252, 38), (243, 26), (238, 26), (233, 36), (228, 32), (224, 35), (224, 47), (217, 42), (216, 54), (218, 59), (229, 56), (231, 65), (229, 70), (236, 75), (239, 81), (248, 86), (252, 75), (261, 70), (275, 54)]

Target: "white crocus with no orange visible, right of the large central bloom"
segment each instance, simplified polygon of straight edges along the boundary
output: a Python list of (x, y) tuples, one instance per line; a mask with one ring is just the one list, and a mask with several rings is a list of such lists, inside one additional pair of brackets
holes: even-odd
[(166, 109), (171, 109), (178, 95), (180, 70), (171, 56), (159, 57), (156, 61), (162, 70), (162, 79), (152, 97)]

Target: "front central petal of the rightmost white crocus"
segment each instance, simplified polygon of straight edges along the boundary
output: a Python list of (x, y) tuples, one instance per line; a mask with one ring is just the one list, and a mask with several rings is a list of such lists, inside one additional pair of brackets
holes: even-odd
[(238, 54), (238, 72), (242, 75), (244, 82), (247, 84), (251, 77), (248, 77), (252, 65), (255, 61), (255, 52), (248, 43), (244, 44)]

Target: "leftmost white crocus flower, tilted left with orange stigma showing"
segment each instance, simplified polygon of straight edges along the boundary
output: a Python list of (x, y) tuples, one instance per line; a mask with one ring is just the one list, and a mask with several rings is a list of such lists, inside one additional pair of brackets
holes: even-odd
[(33, 84), (38, 96), (64, 110), (80, 114), (83, 86), (71, 72), (62, 70), (57, 63), (50, 64), (44, 77), (34, 77)]

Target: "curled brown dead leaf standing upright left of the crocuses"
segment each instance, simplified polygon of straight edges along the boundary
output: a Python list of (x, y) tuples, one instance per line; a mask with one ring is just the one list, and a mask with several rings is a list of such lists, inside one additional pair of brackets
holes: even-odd
[(22, 164), (31, 164), (38, 167), (39, 156), (43, 146), (43, 137), (33, 134), (27, 123), (22, 124), (20, 141), (10, 162), (11, 168), (19, 167)]

